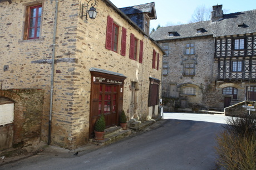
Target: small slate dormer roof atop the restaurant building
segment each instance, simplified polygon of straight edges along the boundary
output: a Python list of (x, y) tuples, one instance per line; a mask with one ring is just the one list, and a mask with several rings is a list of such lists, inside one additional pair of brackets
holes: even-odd
[(138, 6), (119, 8), (124, 14), (148, 13), (151, 19), (156, 19), (155, 2), (140, 4)]

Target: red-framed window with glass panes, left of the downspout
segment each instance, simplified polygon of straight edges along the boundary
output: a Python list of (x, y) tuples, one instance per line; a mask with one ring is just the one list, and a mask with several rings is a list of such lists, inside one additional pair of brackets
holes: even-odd
[(24, 39), (40, 38), (42, 4), (29, 6), (26, 12)]

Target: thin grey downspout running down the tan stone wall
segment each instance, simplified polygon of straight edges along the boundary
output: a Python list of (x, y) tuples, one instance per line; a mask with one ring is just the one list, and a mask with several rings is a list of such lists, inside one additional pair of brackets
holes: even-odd
[(50, 114), (49, 114), (49, 128), (48, 128), (48, 145), (51, 144), (51, 131), (52, 131), (52, 98), (53, 98), (53, 79), (54, 79), (54, 64), (55, 64), (57, 16), (58, 16), (58, 0), (56, 0), (56, 6), (55, 6), (55, 23), (54, 23), (53, 44), (52, 44), (53, 49), (52, 49), (52, 73), (51, 73), (51, 95), (50, 95)]

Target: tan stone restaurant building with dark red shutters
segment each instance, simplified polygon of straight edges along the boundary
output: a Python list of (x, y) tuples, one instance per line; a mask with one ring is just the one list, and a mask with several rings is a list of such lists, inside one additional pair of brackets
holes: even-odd
[(13, 133), (3, 142), (75, 148), (100, 114), (106, 128), (122, 110), (158, 115), (164, 51), (110, 1), (0, 0), (0, 16), (0, 130)]

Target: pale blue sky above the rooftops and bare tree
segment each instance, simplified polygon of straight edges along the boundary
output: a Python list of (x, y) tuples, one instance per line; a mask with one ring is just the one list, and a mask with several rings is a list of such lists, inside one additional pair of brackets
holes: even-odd
[[(139, 4), (155, 2), (156, 20), (150, 21), (150, 29), (169, 25), (189, 23), (196, 7), (204, 4), (212, 9), (222, 4), (225, 13), (235, 13), (256, 9), (256, 0), (110, 0), (117, 8), (131, 7)], [(224, 14), (225, 14), (224, 13)], [(256, 16), (255, 16), (256, 17)]]

